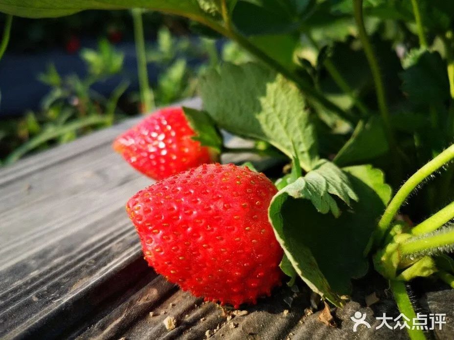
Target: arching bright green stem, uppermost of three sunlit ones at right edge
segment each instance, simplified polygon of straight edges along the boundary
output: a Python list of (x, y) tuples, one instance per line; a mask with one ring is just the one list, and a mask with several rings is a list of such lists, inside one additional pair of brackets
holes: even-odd
[(399, 211), (402, 203), (407, 199), (408, 195), (413, 191), (427, 176), (434, 171), (438, 170), (454, 158), (454, 145), (445, 149), (438, 156), (433, 158), (430, 162), (424, 165), (421, 169), (416, 171), (397, 191), (386, 207), (382, 218), (378, 222), (378, 231), (376, 241), (381, 241), (383, 236), (386, 234), (394, 216)]

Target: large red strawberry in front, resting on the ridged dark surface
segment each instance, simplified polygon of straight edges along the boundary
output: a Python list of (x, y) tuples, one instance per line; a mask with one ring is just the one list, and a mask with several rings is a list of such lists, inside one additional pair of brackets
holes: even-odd
[(204, 164), (137, 192), (126, 210), (159, 274), (238, 308), (280, 284), (282, 249), (268, 221), (276, 191), (264, 174)]

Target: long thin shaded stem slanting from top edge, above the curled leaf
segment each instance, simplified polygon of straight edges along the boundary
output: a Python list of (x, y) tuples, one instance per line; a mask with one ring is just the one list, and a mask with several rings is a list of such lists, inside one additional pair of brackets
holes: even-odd
[(383, 119), (383, 123), (385, 124), (386, 137), (388, 140), (389, 149), (393, 153), (395, 172), (397, 173), (396, 177), (399, 177), (398, 175), (400, 174), (401, 169), (400, 158), (395, 152), (396, 142), (394, 140), (392, 126), (389, 118), (389, 110), (386, 103), (385, 86), (383, 85), (382, 74), (380, 73), (380, 67), (378, 65), (377, 58), (375, 57), (372, 44), (370, 43), (369, 38), (367, 37), (367, 32), (364, 27), (363, 0), (353, 0), (353, 4), (355, 21), (358, 26), (358, 34), (361, 43), (363, 44), (364, 53), (366, 55), (367, 62), (369, 63), (369, 67), (372, 72), (372, 78), (375, 84), (375, 92), (377, 95), (378, 107)]

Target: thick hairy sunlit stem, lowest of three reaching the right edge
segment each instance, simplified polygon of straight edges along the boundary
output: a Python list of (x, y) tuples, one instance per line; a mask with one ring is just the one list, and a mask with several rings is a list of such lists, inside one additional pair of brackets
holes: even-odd
[(454, 244), (454, 229), (439, 232), (428, 237), (411, 237), (399, 246), (403, 256), (419, 255), (432, 249), (440, 249)]

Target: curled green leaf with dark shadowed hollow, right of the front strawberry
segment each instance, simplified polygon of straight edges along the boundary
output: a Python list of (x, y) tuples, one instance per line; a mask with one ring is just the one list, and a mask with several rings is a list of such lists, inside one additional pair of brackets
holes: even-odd
[(330, 209), (327, 186), (308, 178), (312, 171), (279, 191), (269, 209), (277, 239), (298, 275), (336, 305), (340, 295), (350, 293), (351, 278), (367, 272), (363, 250), (391, 196), (381, 170), (363, 165), (343, 171), (359, 200), (336, 213), (338, 218), (327, 213), (339, 208)]

